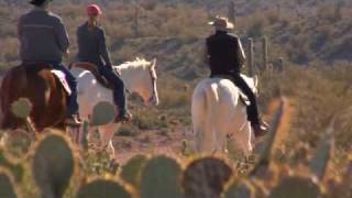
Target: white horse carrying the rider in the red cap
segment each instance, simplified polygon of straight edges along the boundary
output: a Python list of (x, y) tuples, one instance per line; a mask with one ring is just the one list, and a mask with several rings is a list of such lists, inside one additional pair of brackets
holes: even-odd
[[(80, 67), (82, 63), (72, 64), (72, 73), (78, 82), (78, 103), (79, 114), (87, 120), (91, 116), (94, 107), (100, 101), (113, 103), (112, 90), (97, 82), (97, 78), (91, 72)], [(87, 63), (84, 63), (87, 65)], [(90, 64), (91, 65), (91, 64)], [(91, 65), (94, 66), (94, 65)], [(95, 66), (94, 66), (95, 67)], [(127, 62), (120, 66), (113, 66), (114, 72), (119, 73), (125, 88), (130, 92), (136, 92), (142, 97), (145, 103), (158, 105), (158, 95), (156, 89), (156, 59), (147, 62), (136, 58), (134, 62)], [(99, 75), (99, 74), (96, 74)], [(108, 146), (108, 152), (114, 156), (112, 138), (119, 129), (120, 123), (108, 123), (98, 128), (100, 136), (100, 146)], [(89, 131), (97, 130), (90, 129)], [(89, 140), (89, 139), (88, 139)]]

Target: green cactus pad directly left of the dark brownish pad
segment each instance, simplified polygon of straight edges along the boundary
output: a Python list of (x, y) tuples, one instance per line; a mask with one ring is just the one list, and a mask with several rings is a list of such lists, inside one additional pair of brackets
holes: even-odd
[(142, 198), (180, 198), (182, 168), (178, 163), (166, 156), (148, 160), (141, 178)]

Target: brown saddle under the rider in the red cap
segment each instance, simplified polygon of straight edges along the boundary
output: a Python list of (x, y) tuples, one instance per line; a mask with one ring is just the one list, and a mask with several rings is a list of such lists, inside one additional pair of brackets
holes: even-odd
[(111, 90), (113, 89), (113, 85), (110, 84), (109, 80), (107, 80), (103, 76), (100, 75), (98, 67), (95, 64), (91, 64), (88, 62), (75, 62), (69, 64), (68, 66), (70, 70), (75, 67), (90, 72), (102, 87)]

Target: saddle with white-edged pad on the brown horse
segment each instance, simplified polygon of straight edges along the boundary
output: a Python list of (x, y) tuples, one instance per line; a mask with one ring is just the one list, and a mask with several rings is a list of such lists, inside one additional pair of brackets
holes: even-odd
[(66, 80), (66, 75), (62, 70), (54, 69), (54, 66), (47, 63), (23, 63), (22, 65), (18, 66), (18, 68), (14, 69), (24, 69), (26, 75), (31, 74), (37, 74), (43, 69), (48, 69), (51, 73), (56, 77), (56, 79), (61, 82), (63, 86), (64, 90), (68, 96), (72, 95), (72, 89), (68, 86), (68, 82)]

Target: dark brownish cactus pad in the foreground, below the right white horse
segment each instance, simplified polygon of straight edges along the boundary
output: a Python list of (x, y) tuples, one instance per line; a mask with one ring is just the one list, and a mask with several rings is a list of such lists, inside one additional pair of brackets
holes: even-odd
[(220, 197), (231, 175), (231, 167), (220, 158), (194, 161), (184, 172), (183, 187), (186, 198)]

